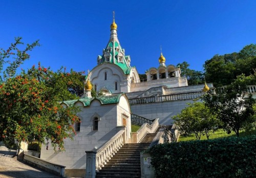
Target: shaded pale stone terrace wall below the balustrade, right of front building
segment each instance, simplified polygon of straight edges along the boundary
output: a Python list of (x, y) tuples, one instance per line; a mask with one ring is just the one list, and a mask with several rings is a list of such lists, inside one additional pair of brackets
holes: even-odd
[(180, 113), (187, 107), (187, 103), (193, 103), (192, 99), (164, 101), (143, 105), (131, 105), (132, 113), (147, 119), (159, 118), (159, 124), (170, 125), (174, 122), (172, 116)]

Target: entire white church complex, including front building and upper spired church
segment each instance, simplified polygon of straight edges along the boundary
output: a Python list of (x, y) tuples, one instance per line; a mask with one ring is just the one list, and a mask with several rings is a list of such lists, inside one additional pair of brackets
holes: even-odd
[[(84, 176), (85, 151), (97, 150), (97, 165), (122, 143), (136, 142), (131, 133), (133, 123), (142, 125), (156, 123), (153, 120), (157, 120), (157, 126), (158, 122), (170, 125), (173, 123), (172, 116), (185, 108), (186, 103), (194, 102), (209, 87), (213, 87), (212, 84), (208, 84), (209, 87), (206, 84), (188, 86), (187, 79), (180, 75), (180, 68), (166, 65), (162, 53), (159, 65), (147, 69), (146, 79), (140, 79), (136, 68), (131, 66), (131, 57), (125, 55), (117, 38), (115, 20), (110, 30), (106, 48), (86, 77), (84, 94), (79, 99), (61, 103), (63, 107), (81, 107), (77, 114), (81, 122), (74, 125), (77, 135), (74, 140), (65, 140), (65, 152), (56, 153), (51, 146), (48, 150), (45, 145), (41, 147), (40, 158), (66, 166), (66, 176)], [(103, 96), (92, 97), (93, 86)], [(108, 145), (113, 146), (106, 147)], [(103, 148), (106, 152), (99, 159)]]

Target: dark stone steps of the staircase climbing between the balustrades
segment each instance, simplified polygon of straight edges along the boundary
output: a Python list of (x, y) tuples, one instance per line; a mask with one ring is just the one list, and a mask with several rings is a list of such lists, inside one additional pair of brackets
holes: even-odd
[(141, 177), (140, 172), (140, 152), (148, 148), (155, 138), (154, 134), (146, 134), (141, 143), (126, 143), (111, 160), (96, 173), (96, 178), (107, 177)]

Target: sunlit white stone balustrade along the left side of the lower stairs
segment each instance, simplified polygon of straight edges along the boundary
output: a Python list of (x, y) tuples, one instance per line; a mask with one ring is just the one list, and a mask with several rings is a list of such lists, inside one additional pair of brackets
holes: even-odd
[(113, 155), (122, 147), (123, 145), (123, 133), (124, 130), (119, 131), (114, 137), (112, 137), (108, 142), (102, 145), (96, 154), (96, 171), (100, 170), (106, 162), (108, 162)]

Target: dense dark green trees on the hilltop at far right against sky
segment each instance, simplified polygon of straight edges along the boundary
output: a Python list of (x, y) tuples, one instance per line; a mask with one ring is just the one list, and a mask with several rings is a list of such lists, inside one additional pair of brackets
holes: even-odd
[[(207, 82), (215, 87), (231, 84), (237, 75), (253, 75), (256, 69), (256, 44), (246, 45), (239, 53), (215, 55), (204, 63)], [(254, 85), (255, 83), (251, 83)]]

